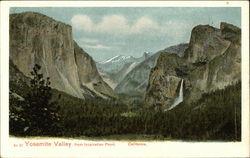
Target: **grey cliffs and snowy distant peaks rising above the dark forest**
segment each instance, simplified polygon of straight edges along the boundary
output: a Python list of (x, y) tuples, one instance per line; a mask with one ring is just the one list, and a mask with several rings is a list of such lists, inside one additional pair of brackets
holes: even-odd
[(226, 23), (220, 29), (199, 25), (188, 44), (96, 63), (72, 39), (71, 26), (26, 12), (10, 15), (10, 60), (26, 77), (41, 65), (53, 88), (79, 98), (119, 96), (168, 107), (182, 79), (186, 101), (240, 80), (240, 32)]

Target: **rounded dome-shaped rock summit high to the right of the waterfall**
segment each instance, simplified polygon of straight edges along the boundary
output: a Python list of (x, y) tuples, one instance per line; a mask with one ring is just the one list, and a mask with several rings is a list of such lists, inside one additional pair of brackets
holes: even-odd
[(221, 37), (222, 31), (209, 25), (198, 25), (191, 33), (190, 45), (185, 58), (191, 63), (207, 62), (221, 55), (230, 41)]

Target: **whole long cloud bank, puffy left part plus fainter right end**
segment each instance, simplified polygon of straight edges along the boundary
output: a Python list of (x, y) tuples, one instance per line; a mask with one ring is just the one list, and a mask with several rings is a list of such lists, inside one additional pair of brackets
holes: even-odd
[[(173, 43), (189, 36), (194, 24), (190, 21), (171, 19), (155, 21), (150, 16), (141, 16), (135, 20), (127, 19), (123, 15), (104, 15), (101, 20), (94, 21), (90, 16), (78, 14), (71, 19), (75, 29), (90, 34), (104, 34), (112, 36), (143, 35), (169, 38)], [(90, 43), (85, 41), (84, 43)], [(97, 43), (97, 42), (96, 42)], [(99, 45), (101, 48), (102, 45)], [(98, 49), (99, 47), (96, 47)], [(107, 49), (104, 47), (104, 49)]]

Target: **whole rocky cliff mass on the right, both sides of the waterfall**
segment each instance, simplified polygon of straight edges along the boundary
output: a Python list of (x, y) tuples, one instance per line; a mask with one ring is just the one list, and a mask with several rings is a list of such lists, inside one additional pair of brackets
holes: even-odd
[(241, 30), (227, 23), (220, 29), (199, 25), (192, 30), (183, 58), (162, 53), (150, 73), (146, 106), (170, 107), (181, 79), (187, 102), (241, 80)]

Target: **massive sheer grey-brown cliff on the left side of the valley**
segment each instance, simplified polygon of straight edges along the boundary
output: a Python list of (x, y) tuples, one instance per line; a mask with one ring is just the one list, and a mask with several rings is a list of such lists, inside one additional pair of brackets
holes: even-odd
[[(73, 96), (84, 98), (86, 86), (101, 97), (115, 97), (93, 59), (73, 41), (71, 26), (45, 15), (10, 15), (10, 60), (27, 77), (34, 64), (41, 65), (53, 88)], [(100, 88), (94, 84), (104, 90), (96, 90)]]

